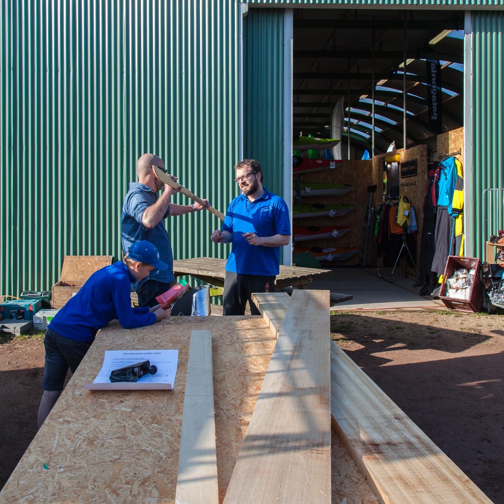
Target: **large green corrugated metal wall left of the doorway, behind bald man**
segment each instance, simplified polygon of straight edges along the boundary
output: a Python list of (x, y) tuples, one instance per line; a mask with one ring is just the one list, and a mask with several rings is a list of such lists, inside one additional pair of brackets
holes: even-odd
[[(0, 295), (50, 288), (68, 254), (119, 257), (144, 152), (225, 212), (237, 194), (240, 16), (231, 0), (2, 3)], [(175, 258), (226, 256), (209, 212), (171, 223)]]

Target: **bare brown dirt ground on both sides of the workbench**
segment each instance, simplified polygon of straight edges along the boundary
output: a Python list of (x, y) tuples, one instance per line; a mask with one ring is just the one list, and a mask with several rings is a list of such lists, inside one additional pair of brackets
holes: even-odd
[[(332, 337), (495, 504), (504, 504), (504, 316), (336, 312)], [(0, 337), (0, 487), (36, 432), (41, 337)]]

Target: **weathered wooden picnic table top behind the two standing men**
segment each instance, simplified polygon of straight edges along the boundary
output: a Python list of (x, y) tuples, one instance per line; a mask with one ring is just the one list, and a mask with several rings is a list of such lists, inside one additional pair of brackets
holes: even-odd
[[(210, 257), (199, 257), (194, 259), (179, 259), (173, 261), (173, 272), (175, 276), (191, 275), (199, 278), (208, 284), (222, 287), (226, 276), (226, 260)], [(280, 273), (277, 275), (275, 287), (298, 287), (304, 289), (313, 281), (314, 277), (320, 277), (332, 273), (331, 270), (321, 270), (318, 268), (300, 268), (297, 266), (280, 266)]]

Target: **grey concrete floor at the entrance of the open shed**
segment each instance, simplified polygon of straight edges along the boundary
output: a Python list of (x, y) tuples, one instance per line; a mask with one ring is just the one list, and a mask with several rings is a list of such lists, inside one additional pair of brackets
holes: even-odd
[(335, 268), (330, 275), (313, 280), (310, 289), (327, 289), (331, 292), (351, 294), (353, 299), (332, 304), (333, 310), (381, 310), (381, 309), (447, 309), (440, 299), (420, 296), (421, 287), (413, 287), (414, 280), (394, 274), (391, 269)]

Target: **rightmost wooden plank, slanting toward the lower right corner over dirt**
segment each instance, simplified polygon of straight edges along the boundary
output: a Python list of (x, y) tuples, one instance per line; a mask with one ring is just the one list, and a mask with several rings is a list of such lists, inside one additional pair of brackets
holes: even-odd
[(484, 493), (331, 342), (333, 428), (384, 503), (487, 503)]

